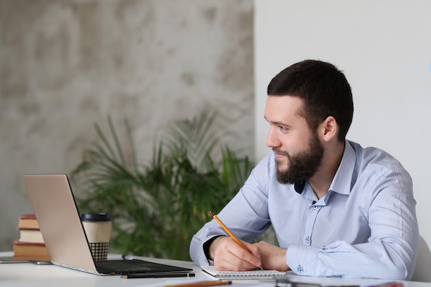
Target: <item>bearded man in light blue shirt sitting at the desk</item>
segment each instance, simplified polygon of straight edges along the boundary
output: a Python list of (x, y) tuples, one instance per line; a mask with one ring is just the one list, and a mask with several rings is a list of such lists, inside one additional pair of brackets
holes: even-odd
[[(287, 67), (269, 83), (264, 116), (272, 151), (218, 214), (248, 251), (212, 220), (191, 240), (191, 259), (218, 270), (410, 279), (412, 180), (385, 151), (346, 140), (353, 98), (344, 74), (322, 61)], [(249, 243), (271, 224), (280, 247)]]

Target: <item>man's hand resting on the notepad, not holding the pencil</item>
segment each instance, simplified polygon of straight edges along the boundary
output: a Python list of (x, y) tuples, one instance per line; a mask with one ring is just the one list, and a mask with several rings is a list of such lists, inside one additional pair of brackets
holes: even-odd
[(262, 260), (262, 267), (268, 270), (287, 271), (291, 268), (286, 264), (286, 248), (280, 248), (268, 242), (258, 242), (253, 244), (259, 248), (258, 254)]

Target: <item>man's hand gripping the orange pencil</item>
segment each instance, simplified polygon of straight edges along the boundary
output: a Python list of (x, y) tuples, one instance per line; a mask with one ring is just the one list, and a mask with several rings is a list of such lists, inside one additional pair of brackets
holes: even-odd
[(242, 241), (248, 251), (244, 250), (231, 237), (220, 236), (209, 246), (209, 256), (217, 270), (245, 271), (261, 266), (259, 248)]

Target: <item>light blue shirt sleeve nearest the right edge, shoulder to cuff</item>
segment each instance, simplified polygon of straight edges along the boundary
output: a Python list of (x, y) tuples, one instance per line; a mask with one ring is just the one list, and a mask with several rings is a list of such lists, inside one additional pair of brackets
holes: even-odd
[(410, 279), (419, 231), (412, 182), (405, 172), (388, 171), (364, 186), (358, 204), (370, 226), (368, 242), (335, 241), (316, 247), (291, 244), (286, 263), (298, 275)]

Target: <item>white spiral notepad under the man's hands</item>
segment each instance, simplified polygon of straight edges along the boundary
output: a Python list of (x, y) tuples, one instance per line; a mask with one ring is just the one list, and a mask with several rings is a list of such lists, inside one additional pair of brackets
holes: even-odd
[(219, 271), (214, 266), (200, 266), (202, 271), (217, 279), (280, 279), (286, 278), (287, 273), (277, 270), (249, 270), (249, 271)]

